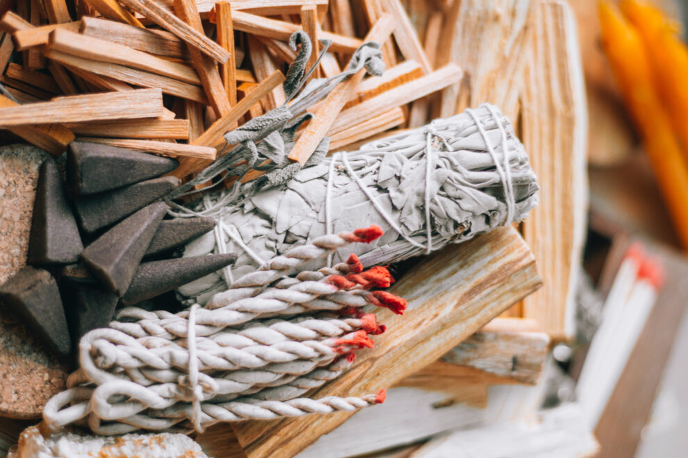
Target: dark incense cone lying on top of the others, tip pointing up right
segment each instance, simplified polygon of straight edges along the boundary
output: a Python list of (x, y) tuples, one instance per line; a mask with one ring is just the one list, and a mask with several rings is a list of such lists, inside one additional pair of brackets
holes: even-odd
[(167, 205), (163, 202), (142, 208), (81, 253), (86, 268), (109, 291), (122, 296), (129, 287), (166, 210)]

